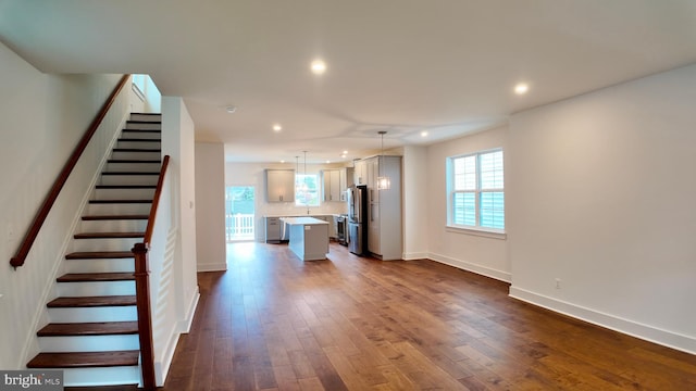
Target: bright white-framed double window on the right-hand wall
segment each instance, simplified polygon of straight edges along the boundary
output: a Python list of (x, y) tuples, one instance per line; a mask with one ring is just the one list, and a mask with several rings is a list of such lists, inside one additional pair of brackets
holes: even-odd
[(448, 159), (448, 219), (455, 227), (505, 229), (502, 150)]

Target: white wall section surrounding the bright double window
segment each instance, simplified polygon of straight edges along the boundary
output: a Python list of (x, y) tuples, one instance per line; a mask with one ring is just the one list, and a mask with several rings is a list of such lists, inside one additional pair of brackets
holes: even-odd
[[(484, 237), (447, 228), (447, 157), (502, 148), (508, 175), (507, 126), (448, 140), (427, 148), (427, 242), (430, 258), (467, 270), (510, 281), (510, 258), (506, 239)], [(506, 199), (508, 198), (506, 189)], [(507, 205), (506, 205), (507, 207)], [(509, 219), (506, 224), (509, 223)]]

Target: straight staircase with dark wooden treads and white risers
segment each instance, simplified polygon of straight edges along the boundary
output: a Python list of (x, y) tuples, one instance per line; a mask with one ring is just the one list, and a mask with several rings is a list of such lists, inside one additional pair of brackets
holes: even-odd
[(65, 386), (140, 382), (135, 256), (161, 165), (161, 115), (132, 114), (85, 210), (50, 323), (27, 368), (64, 370)]

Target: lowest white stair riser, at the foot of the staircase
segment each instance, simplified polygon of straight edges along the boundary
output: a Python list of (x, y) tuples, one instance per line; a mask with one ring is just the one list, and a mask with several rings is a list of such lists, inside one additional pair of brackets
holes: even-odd
[(137, 384), (140, 382), (140, 367), (66, 368), (63, 382), (69, 387)]

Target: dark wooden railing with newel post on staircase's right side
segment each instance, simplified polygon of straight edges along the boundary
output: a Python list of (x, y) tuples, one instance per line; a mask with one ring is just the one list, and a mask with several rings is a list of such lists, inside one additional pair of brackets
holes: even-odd
[(154, 220), (157, 219), (157, 209), (162, 197), (162, 188), (164, 187), (164, 176), (170, 164), (170, 156), (164, 156), (160, 177), (157, 181), (157, 189), (152, 198), (150, 206), (150, 215), (148, 217), (148, 227), (145, 230), (145, 237), (141, 243), (135, 243), (133, 254), (135, 256), (135, 290), (138, 311), (138, 338), (140, 341), (140, 368), (142, 371), (142, 388), (145, 390), (154, 390), (154, 346), (152, 343), (152, 310), (150, 305), (150, 267), (148, 251), (150, 250), (150, 240), (154, 229)]

